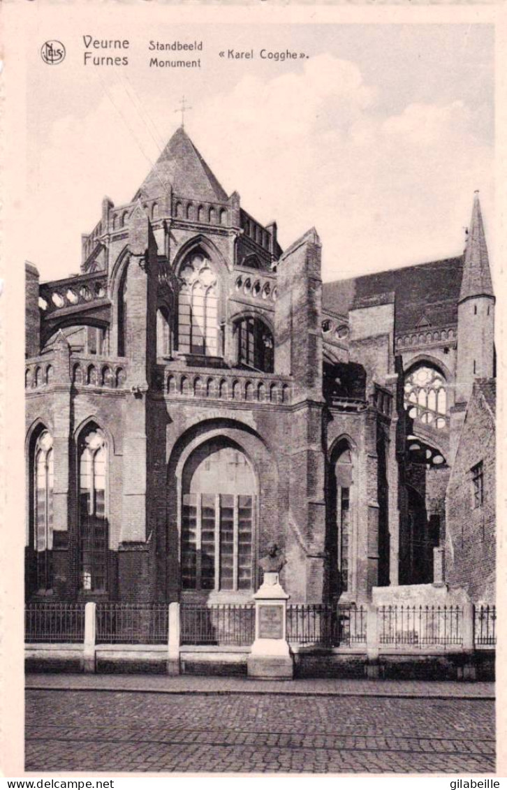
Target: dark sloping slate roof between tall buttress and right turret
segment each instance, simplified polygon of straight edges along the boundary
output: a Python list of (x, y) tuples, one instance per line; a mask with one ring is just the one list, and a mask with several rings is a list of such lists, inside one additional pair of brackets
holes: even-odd
[[(456, 324), (463, 255), (404, 269), (366, 274), (350, 280), (336, 280), (322, 286), (322, 307), (347, 315), (367, 299), (370, 303), (395, 299), (396, 334), (420, 325), (445, 327)], [(426, 322), (425, 322), (426, 319)]]

